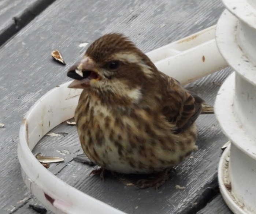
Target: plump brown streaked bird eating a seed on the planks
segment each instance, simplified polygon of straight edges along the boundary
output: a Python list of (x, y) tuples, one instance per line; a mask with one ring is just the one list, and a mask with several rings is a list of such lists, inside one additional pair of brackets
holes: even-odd
[(84, 89), (75, 110), (84, 153), (104, 170), (158, 173), (140, 188), (160, 187), (168, 170), (197, 150), (194, 121), (213, 107), (158, 71), (122, 34), (94, 41), (67, 75)]

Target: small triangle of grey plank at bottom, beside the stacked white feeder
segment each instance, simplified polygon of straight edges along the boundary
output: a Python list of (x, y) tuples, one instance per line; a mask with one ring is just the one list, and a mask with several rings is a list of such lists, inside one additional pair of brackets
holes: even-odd
[(233, 212), (226, 205), (221, 195), (218, 195), (210, 203), (207, 204), (202, 210), (197, 214), (233, 214)]

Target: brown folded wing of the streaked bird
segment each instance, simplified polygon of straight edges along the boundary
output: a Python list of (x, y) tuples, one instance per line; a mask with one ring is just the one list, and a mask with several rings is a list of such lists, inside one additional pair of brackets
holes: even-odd
[(161, 76), (166, 83), (163, 84), (165, 93), (162, 113), (168, 121), (175, 124), (176, 133), (182, 132), (193, 124), (201, 113), (203, 100), (188, 93), (174, 78), (165, 74)]

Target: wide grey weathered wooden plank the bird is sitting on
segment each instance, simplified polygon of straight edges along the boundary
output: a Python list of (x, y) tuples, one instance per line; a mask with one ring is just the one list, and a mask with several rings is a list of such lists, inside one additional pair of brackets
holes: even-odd
[[(32, 213), (27, 207), (35, 202), (22, 180), (16, 155), (20, 121), (43, 94), (70, 80), (67, 68), (86, 50), (79, 47), (81, 42), (92, 42), (109, 32), (122, 32), (148, 52), (216, 24), (223, 9), (220, 0), (55, 1), (2, 46), (0, 123), (5, 123), (5, 127), (0, 129), (0, 213)], [(62, 52), (66, 67), (52, 60), (50, 53), (54, 49)], [(213, 82), (223, 82), (229, 72), (221, 71), (190, 87), (213, 104), (219, 88)], [(56, 131), (68, 132), (67, 136), (45, 137), (36, 151), (65, 157), (63, 164), (52, 164), (49, 170), (68, 184), (127, 213), (188, 213), (201, 203), (198, 200), (206, 188), (216, 187), (220, 147), (226, 141), (214, 116), (200, 116), (198, 125), (199, 151), (179, 165), (177, 173), (159, 191), (136, 191), (133, 186), (126, 186), (126, 181), (111, 176), (104, 183), (97, 177), (88, 178), (92, 168), (71, 161), (82, 150), (75, 128), (65, 124)], [(62, 156), (56, 151), (63, 149), (70, 154)], [(186, 188), (175, 189), (176, 184)]]

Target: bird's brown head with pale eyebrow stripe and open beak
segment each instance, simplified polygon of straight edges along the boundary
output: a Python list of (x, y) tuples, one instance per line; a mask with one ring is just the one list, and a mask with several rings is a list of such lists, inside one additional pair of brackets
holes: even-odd
[(68, 87), (109, 92), (140, 99), (143, 85), (157, 71), (152, 61), (122, 34), (106, 34), (94, 41), (67, 76)]

